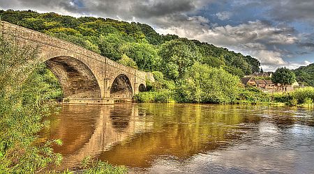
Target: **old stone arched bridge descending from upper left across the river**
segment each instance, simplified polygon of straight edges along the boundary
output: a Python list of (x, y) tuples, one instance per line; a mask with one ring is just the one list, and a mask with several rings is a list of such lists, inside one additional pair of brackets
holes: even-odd
[(131, 101), (133, 95), (146, 89), (146, 81), (154, 81), (151, 72), (126, 67), (50, 35), (0, 21), (0, 32), (12, 35), (17, 45), (39, 48), (40, 61), (59, 79), (63, 102), (112, 103)]

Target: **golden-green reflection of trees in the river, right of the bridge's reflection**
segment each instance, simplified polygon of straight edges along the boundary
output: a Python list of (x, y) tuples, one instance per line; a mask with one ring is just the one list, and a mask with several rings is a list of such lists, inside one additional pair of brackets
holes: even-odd
[[(190, 157), (199, 152), (225, 147), (231, 139), (238, 139), (241, 132), (239, 123), (259, 122), (260, 118), (249, 118), (238, 106), (200, 105), (200, 104), (151, 104), (140, 105), (150, 113), (147, 122), (154, 122), (151, 132), (116, 145), (103, 152), (101, 159), (114, 164), (147, 166), (159, 155)], [(134, 152), (134, 154), (132, 154)], [(124, 155), (132, 155), (125, 158)]]

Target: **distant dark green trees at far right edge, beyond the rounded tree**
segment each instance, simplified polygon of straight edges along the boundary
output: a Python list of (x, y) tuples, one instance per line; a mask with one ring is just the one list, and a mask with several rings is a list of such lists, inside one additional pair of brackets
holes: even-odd
[(297, 70), (294, 70), (294, 74), (299, 84), (314, 86), (314, 63), (297, 68)]

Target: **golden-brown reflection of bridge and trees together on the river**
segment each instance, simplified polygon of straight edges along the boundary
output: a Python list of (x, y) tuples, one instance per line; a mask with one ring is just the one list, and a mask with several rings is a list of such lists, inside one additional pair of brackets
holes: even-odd
[[(228, 113), (224, 113), (224, 111)], [(243, 113), (244, 114), (244, 113)], [(234, 106), (197, 104), (63, 105), (52, 118), (49, 139), (63, 155), (60, 169), (75, 167), (91, 156), (112, 164), (149, 167), (163, 155), (188, 158), (226, 147), (237, 139), (237, 124), (246, 120)]]

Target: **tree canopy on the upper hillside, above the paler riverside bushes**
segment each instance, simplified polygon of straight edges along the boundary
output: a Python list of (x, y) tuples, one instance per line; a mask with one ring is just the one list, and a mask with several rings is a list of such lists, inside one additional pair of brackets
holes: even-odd
[(260, 62), (251, 56), (178, 35), (160, 35), (147, 24), (32, 10), (0, 10), (0, 15), (6, 22), (73, 42), (114, 61), (126, 54), (140, 70), (158, 70), (174, 81), (195, 62), (223, 67), (239, 77), (260, 71)]

